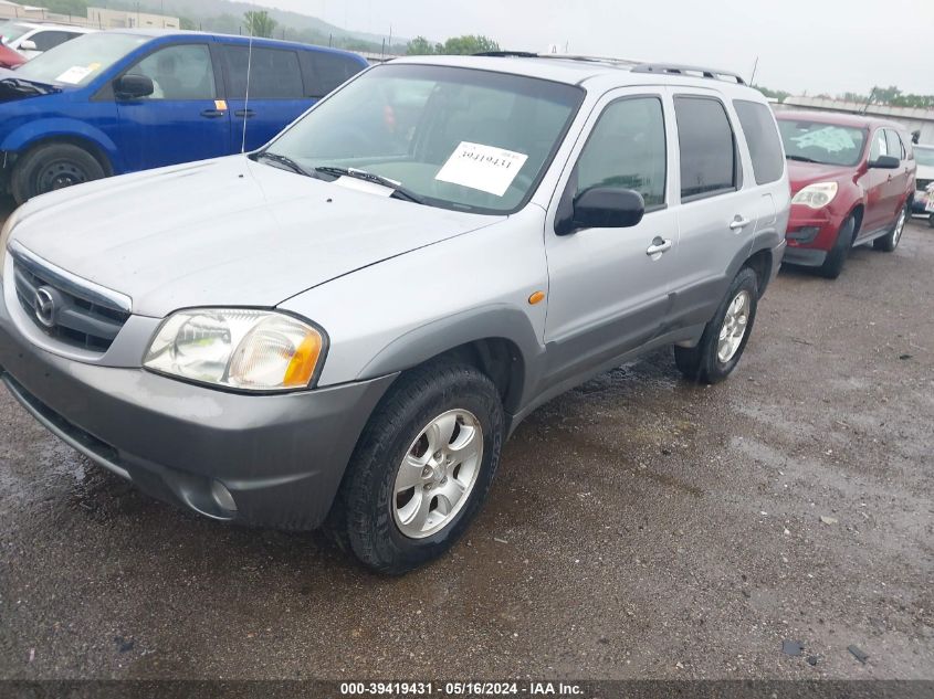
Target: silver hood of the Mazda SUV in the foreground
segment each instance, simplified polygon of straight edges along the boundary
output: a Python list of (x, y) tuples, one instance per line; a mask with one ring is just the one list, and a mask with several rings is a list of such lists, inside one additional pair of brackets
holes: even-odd
[(22, 214), (17, 241), (155, 317), (193, 306), (273, 307), (503, 219), (356, 191), (243, 156), (61, 190)]

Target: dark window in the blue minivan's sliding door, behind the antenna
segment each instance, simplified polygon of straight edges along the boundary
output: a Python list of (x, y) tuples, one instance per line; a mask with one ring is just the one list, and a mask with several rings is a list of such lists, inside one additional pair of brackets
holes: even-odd
[(298, 54), (281, 49), (253, 46), (253, 64), (250, 65), (249, 46), (223, 47), (230, 78), (231, 99), (246, 97), (246, 75), (250, 75), (251, 99), (303, 99), (302, 68)]

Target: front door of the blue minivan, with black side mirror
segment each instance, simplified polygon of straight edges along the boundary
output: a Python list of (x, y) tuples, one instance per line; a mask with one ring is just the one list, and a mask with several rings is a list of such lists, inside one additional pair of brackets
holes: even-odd
[(155, 92), (117, 99), (127, 170), (206, 160), (230, 152), (230, 113), (209, 42), (161, 45), (124, 74), (153, 80)]

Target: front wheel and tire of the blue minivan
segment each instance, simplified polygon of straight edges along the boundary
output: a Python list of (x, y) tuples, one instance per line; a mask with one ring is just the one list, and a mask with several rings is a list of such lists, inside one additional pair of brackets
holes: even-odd
[(90, 152), (71, 144), (39, 146), (20, 158), (10, 189), (17, 203), (65, 187), (99, 180), (103, 166)]

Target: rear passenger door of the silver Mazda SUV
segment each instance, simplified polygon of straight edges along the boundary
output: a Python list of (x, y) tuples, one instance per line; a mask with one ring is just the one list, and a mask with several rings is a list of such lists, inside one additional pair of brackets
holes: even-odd
[(757, 225), (774, 222), (775, 202), (745, 166), (738, 120), (718, 92), (672, 88), (680, 153), (678, 227), (672, 273), (674, 328), (706, 324), (732, 282), (736, 258)]

